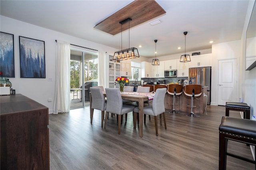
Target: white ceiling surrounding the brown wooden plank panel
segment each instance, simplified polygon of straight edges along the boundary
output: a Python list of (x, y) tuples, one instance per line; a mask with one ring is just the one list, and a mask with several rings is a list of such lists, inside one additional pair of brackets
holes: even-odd
[[(132, 0), (1, 0), (0, 14), (71, 36), (121, 49), (121, 34), (110, 34), (94, 26)], [(130, 28), (130, 47), (141, 56), (157, 56), (210, 49), (214, 43), (240, 40), (248, 0), (156, 0), (166, 14)], [(151, 26), (149, 23), (162, 23)], [(128, 48), (128, 31), (122, 33), (122, 49)], [(82, 45), (82, 44), (79, 44)], [(141, 48), (138, 46), (142, 45)], [(181, 47), (181, 49), (177, 49)], [(114, 52), (114, 51), (113, 51)]]

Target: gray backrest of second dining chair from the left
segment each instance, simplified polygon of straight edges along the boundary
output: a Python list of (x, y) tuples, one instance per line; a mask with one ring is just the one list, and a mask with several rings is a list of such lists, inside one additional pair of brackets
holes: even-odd
[(105, 90), (108, 101), (106, 111), (120, 115), (123, 107), (120, 90), (116, 88), (106, 88)]

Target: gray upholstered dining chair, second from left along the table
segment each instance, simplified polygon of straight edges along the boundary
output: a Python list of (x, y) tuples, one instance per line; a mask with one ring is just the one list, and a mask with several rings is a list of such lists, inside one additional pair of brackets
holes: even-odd
[(133, 112), (134, 107), (129, 105), (123, 105), (122, 97), (120, 94), (120, 90), (116, 88), (106, 88), (106, 96), (108, 99), (107, 108), (106, 108), (106, 116), (105, 116), (105, 125), (107, 125), (107, 117), (108, 113), (114, 113), (118, 117), (118, 134), (121, 133), (121, 115), (124, 115), (129, 112)]

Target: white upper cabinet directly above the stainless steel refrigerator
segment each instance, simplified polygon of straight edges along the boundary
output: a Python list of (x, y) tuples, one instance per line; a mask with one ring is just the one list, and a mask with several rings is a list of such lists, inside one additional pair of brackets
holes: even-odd
[(191, 62), (190, 63), (190, 68), (191, 67), (208, 67), (211, 66), (211, 61), (212, 61), (212, 54), (202, 54), (202, 55), (194, 55), (190, 56)]

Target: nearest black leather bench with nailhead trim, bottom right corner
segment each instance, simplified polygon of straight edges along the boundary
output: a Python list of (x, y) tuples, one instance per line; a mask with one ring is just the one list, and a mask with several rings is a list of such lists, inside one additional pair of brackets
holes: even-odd
[(227, 156), (255, 164), (256, 161), (227, 152), (228, 140), (254, 145), (256, 151), (256, 121), (222, 117), (219, 127), (219, 170), (226, 170)]

